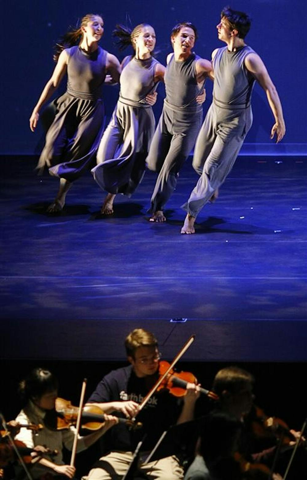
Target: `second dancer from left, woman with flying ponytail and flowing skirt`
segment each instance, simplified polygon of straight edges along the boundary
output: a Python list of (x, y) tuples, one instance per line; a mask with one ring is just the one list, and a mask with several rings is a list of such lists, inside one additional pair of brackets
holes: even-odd
[(165, 71), (151, 56), (156, 44), (152, 26), (140, 24), (131, 31), (117, 25), (113, 33), (121, 49), (132, 45), (135, 54), (122, 62), (119, 100), (98, 148), (98, 165), (92, 169), (98, 185), (109, 192), (101, 207), (101, 214), (106, 215), (113, 213), (115, 195), (130, 197), (143, 178), (155, 131), (150, 103), (155, 102), (155, 90)]

